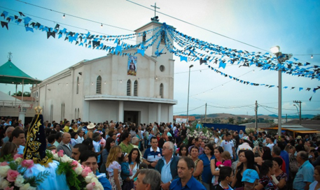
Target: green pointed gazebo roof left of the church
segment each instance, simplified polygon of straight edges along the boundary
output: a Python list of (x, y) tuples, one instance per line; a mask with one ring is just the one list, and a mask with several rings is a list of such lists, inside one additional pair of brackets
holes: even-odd
[(41, 80), (34, 79), (21, 71), (20, 68), (15, 66), (11, 60), (0, 66), (0, 83), (5, 84), (38, 84)]

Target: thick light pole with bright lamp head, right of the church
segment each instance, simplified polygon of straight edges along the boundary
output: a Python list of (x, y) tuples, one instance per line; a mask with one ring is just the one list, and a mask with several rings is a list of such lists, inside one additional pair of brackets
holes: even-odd
[(282, 68), (282, 62), (290, 59), (292, 57), (292, 54), (282, 54), (280, 52), (280, 47), (274, 46), (270, 48), (271, 52), (277, 56), (279, 66), (278, 66), (278, 136), (281, 136), (281, 123), (282, 123), (282, 79), (281, 79), (281, 68)]

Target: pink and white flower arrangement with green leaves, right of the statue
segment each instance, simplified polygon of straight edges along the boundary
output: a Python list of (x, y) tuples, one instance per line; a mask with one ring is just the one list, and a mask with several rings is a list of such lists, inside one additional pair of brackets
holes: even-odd
[(57, 174), (66, 175), (67, 184), (70, 190), (104, 189), (89, 167), (82, 166), (80, 163), (78, 163), (78, 161), (70, 159), (69, 156), (63, 154), (63, 150), (60, 150), (59, 152), (52, 152), (47, 149), (46, 154), (49, 158), (53, 158), (53, 160), (60, 162), (59, 166), (57, 167)]

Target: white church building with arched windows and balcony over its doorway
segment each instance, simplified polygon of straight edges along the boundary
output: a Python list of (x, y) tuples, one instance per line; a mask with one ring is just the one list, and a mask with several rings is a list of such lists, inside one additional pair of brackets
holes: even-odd
[[(135, 32), (156, 27), (161, 27), (161, 23), (152, 21)], [(143, 41), (142, 38), (137, 37), (137, 43)], [(81, 121), (90, 122), (172, 122), (173, 105), (177, 103), (174, 59), (163, 42), (159, 50), (164, 48), (165, 54), (156, 57), (157, 44), (148, 47), (144, 56), (134, 55), (136, 75), (129, 74), (130, 57), (108, 54), (80, 61), (43, 80), (32, 88), (32, 96), (38, 98), (43, 107), (43, 119), (59, 122), (80, 117)], [(137, 52), (137, 49), (126, 52)]]

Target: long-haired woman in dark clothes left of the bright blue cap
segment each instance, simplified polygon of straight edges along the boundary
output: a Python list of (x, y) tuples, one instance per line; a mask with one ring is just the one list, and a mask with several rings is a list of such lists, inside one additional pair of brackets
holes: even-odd
[(235, 171), (235, 178), (232, 182), (232, 187), (239, 188), (244, 187), (242, 183), (242, 176), (246, 169), (256, 170), (259, 173), (259, 169), (254, 165), (254, 154), (252, 150), (246, 150), (239, 153), (239, 163), (237, 164), (237, 170)]

